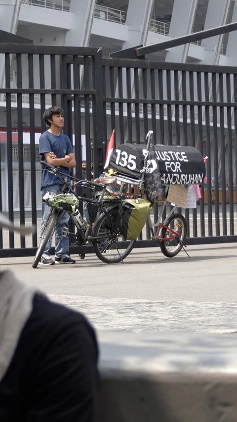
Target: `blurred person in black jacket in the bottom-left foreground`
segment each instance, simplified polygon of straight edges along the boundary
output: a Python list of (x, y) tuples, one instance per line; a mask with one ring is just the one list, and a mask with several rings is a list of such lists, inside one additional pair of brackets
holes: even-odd
[[(1, 227), (29, 233), (0, 214)], [(0, 272), (1, 422), (96, 422), (97, 361), (81, 313)]]

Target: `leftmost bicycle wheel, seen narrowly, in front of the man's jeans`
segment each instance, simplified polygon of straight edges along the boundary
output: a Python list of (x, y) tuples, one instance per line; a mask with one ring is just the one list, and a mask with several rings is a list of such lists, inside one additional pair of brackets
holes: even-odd
[(52, 211), (49, 212), (46, 223), (45, 223), (44, 228), (43, 228), (43, 232), (41, 234), (40, 246), (37, 249), (37, 252), (36, 252), (33, 264), (32, 264), (33, 268), (36, 268), (37, 265), (39, 264), (42, 253), (44, 251), (44, 248), (45, 248), (46, 244), (48, 243), (48, 240), (54, 234), (54, 231), (57, 227), (58, 221), (61, 218), (60, 214), (56, 211), (55, 208)]

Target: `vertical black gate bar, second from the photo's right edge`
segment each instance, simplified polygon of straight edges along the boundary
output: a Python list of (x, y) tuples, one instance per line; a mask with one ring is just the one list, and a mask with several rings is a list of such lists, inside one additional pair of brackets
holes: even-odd
[[(231, 75), (226, 74), (227, 102), (231, 103)], [(229, 173), (229, 207), (230, 207), (230, 234), (234, 234), (234, 195), (233, 195), (233, 153), (232, 153), (232, 122), (231, 107), (227, 106), (227, 147)]]

